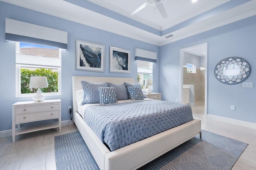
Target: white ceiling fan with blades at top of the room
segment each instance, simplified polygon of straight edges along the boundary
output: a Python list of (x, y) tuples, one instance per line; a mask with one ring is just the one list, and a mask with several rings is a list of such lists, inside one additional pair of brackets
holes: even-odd
[(163, 16), (163, 18), (167, 18), (167, 14), (164, 9), (164, 5), (162, 4), (162, 0), (147, 0), (147, 2), (142, 4), (142, 6), (140, 6), (134, 12), (132, 12), (131, 15), (133, 16), (134, 14), (136, 14), (137, 12), (139, 12), (140, 10), (142, 10), (143, 8), (145, 8), (148, 5), (155, 6), (155, 8), (157, 8), (159, 10), (159, 12)]

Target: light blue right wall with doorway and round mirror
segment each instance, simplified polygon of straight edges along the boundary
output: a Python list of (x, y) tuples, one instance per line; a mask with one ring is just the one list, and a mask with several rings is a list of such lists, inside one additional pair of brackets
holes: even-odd
[[(256, 16), (212, 29), (210, 31), (160, 47), (160, 92), (162, 100), (175, 102), (179, 98), (180, 49), (208, 43), (208, 109), (211, 115), (256, 123)], [(243, 88), (242, 83), (227, 85), (214, 76), (216, 64), (227, 57), (244, 58), (252, 68), (244, 82), (254, 88)], [(230, 110), (236, 106), (236, 111)]]

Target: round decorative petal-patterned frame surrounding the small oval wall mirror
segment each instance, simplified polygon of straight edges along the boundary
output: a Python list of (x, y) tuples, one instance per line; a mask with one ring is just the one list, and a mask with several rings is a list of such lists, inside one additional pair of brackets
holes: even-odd
[[(241, 69), (237, 76), (224, 76), (223, 68), (228, 64), (236, 64)], [(214, 75), (220, 82), (224, 84), (238, 84), (244, 81), (250, 74), (250, 64), (240, 57), (228, 57), (220, 61), (214, 69)]]

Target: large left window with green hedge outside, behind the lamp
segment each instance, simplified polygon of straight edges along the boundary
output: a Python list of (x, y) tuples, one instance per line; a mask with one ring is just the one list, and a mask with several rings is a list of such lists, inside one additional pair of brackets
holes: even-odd
[(55, 47), (16, 42), (16, 96), (32, 96), (30, 76), (46, 76), (44, 95), (60, 94), (61, 50)]

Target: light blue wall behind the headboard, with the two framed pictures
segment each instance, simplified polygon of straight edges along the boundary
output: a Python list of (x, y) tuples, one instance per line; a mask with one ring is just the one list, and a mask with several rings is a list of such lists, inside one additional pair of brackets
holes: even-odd
[[(86, 25), (64, 20), (26, 8), (0, 2), (0, 131), (12, 128), (12, 104), (19, 101), (32, 100), (31, 97), (15, 97), (15, 42), (5, 40), (5, 18), (42, 25), (68, 32), (68, 49), (62, 50), (61, 96), (46, 96), (47, 99), (62, 100), (62, 120), (68, 120), (68, 106), (72, 106), (72, 76), (111, 76), (132, 77), (137, 80), (137, 62), (134, 61), (136, 48), (154, 51), (158, 54), (159, 47), (116, 35)], [(80, 39), (105, 45), (105, 72), (75, 70), (75, 40)], [(131, 51), (131, 73), (109, 72), (109, 47), (118, 47)], [(153, 66), (154, 92), (159, 92), (159, 63)]]

